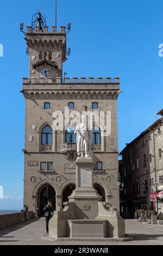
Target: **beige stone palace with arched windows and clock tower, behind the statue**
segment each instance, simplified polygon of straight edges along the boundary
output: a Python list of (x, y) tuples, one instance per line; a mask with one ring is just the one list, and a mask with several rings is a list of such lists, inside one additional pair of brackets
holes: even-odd
[[(23, 78), (22, 93), (26, 100), (24, 147), (24, 204), (36, 216), (43, 215), (43, 206), (52, 199), (54, 209), (67, 202), (76, 187), (77, 158), (75, 137), (53, 130), (53, 113), (65, 107), (71, 111), (110, 111), (111, 133), (104, 137), (100, 127), (92, 135), (95, 161), (94, 185), (110, 205), (119, 210), (117, 186), (117, 97), (119, 78), (62, 78), (66, 60), (66, 31), (61, 27), (27, 27), (29, 78)], [(95, 126), (94, 126), (95, 127)], [(96, 131), (95, 131), (96, 130)]]

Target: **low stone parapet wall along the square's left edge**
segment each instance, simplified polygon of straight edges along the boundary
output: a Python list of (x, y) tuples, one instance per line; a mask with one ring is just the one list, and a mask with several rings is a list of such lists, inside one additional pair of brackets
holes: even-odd
[[(28, 211), (28, 218), (34, 218), (34, 212)], [(11, 214), (1, 214), (0, 215), (0, 229), (9, 227), (16, 223), (24, 221), (24, 212), (12, 212)]]

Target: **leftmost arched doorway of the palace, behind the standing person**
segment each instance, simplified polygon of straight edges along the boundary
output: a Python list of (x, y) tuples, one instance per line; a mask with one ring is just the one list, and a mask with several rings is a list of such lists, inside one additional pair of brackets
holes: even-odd
[(38, 191), (38, 216), (44, 216), (43, 208), (47, 204), (48, 199), (52, 200), (52, 206), (55, 210), (55, 190), (51, 185), (46, 184), (40, 187)]

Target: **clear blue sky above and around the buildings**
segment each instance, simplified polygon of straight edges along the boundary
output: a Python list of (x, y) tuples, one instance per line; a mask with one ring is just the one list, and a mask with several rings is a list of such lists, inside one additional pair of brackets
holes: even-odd
[[(0, 209), (22, 209), (24, 99), (22, 77), (28, 76), (26, 42), (21, 22), (30, 26), (43, 7), (47, 25), (54, 25), (54, 0), (3, 1), (0, 8), (1, 173), (5, 199)], [(162, 106), (162, 0), (58, 0), (58, 26), (71, 22), (64, 64), (69, 77), (119, 76), (119, 151), (156, 119)]]

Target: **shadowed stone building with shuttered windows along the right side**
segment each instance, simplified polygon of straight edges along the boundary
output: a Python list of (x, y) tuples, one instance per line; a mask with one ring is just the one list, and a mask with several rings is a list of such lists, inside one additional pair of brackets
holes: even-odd
[[(158, 113), (163, 115), (162, 111)], [(157, 119), (121, 151), (121, 215), (133, 218), (136, 209), (163, 212), (163, 118)]]

